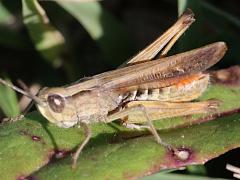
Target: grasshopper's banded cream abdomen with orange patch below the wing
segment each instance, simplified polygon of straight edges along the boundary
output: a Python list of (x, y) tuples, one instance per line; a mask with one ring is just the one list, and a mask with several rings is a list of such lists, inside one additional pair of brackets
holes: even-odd
[[(157, 83), (157, 82), (156, 82)], [(197, 99), (207, 89), (208, 74), (194, 74), (177, 83), (162, 88), (137, 89), (122, 95), (122, 103), (128, 101), (183, 102)]]

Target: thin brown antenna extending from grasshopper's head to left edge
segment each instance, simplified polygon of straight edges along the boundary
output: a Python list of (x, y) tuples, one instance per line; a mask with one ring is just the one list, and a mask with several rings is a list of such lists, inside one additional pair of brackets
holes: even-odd
[(3, 80), (1, 78), (0, 78), (0, 83), (5, 85), (5, 86), (10, 87), (14, 91), (17, 91), (17, 92), (23, 94), (24, 96), (27, 96), (28, 98), (32, 99), (37, 104), (39, 104), (41, 106), (44, 106), (44, 102), (39, 97), (33, 95), (31, 92), (24, 91), (23, 89), (20, 89), (19, 87), (14, 86), (14, 85), (8, 83), (7, 81), (5, 81), (5, 80)]

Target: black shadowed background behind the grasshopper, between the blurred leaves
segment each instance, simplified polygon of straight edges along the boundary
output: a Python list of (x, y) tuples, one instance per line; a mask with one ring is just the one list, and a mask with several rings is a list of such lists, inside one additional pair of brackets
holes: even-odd
[[(41, 2), (51, 22), (66, 38), (67, 43), (62, 58), (73, 67), (72, 72), (68, 74), (64, 67), (67, 63), (59, 68), (53, 68), (34, 49), (22, 22), (21, 2), (13, 0), (11, 2), (2, 0), (2, 2), (15, 16), (14, 23), (11, 22), (12, 24), (5, 25), (4, 28), (9, 28), (18, 38), (10, 36), (9, 42), (0, 44), (2, 59), (0, 72), (7, 73), (13, 81), (20, 78), (26, 83), (38, 82), (43, 86), (61, 85), (83, 76), (114, 69), (157, 38), (178, 17), (178, 3), (174, 0), (101, 1), (102, 6), (122, 25), (125, 36), (128, 37), (127, 42), (106, 45), (115, 46), (115, 54), (112, 58), (104, 56), (96, 41), (91, 39), (87, 31), (68, 12), (54, 2)], [(170, 53), (190, 50), (214, 41), (225, 41), (229, 51), (218, 67), (238, 64), (240, 2), (237, 0), (192, 1), (187, 6), (194, 11), (196, 22)], [(61, 11), (61, 14), (58, 11)], [(114, 31), (111, 28), (110, 30)], [(129, 47), (128, 49), (121, 49), (124, 43)]]

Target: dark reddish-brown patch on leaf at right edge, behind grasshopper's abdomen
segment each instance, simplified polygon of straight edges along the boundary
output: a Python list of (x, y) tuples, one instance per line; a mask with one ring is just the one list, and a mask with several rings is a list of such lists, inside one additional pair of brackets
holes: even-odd
[(240, 66), (211, 72), (212, 81), (227, 86), (240, 86)]

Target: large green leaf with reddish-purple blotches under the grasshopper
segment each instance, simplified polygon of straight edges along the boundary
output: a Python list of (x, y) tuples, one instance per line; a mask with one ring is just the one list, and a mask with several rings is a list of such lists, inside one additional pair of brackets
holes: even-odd
[(240, 88), (214, 85), (201, 99), (209, 98), (220, 99), (222, 106), (217, 114), (201, 115), (200, 119), (219, 117), (216, 120), (199, 124), (198, 116), (155, 122), (165, 142), (189, 152), (185, 161), (157, 144), (151, 135), (146, 136), (145, 131), (100, 123), (92, 125), (93, 137), (73, 170), (69, 154), (83, 141), (82, 129), (58, 128), (38, 113), (31, 113), (24, 121), (0, 127), (0, 179), (30, 174), (37, 179), (126, 179), (203, 164), (240, 146), (240, 114), (233, 114), (239, 112)]

